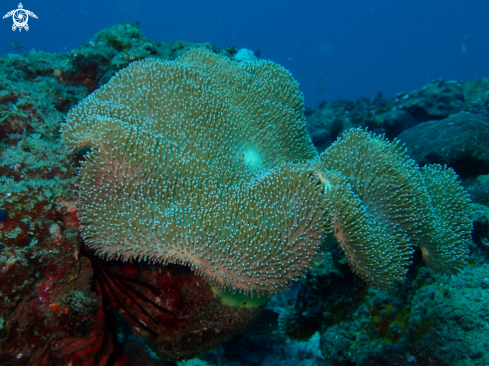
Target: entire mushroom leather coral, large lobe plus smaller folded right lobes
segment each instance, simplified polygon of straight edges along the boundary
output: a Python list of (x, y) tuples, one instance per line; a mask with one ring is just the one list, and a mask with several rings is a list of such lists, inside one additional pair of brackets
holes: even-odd
[(453, 171), (420, 169), (398, 142), (347, 131), (318, 158), (298, 85), (267, 61), (203, 49), (131, 64), (75, 109), (66, 145), (82, 234), (99, 255), (188, 265), (219, 288), (272, 295), (334, 233), (359, 276), (403, 281), (414, 248), (457, 272), (470, 241)]

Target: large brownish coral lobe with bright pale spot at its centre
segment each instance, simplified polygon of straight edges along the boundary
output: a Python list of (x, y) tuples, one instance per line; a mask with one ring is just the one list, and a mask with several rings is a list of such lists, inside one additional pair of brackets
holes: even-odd
[(132, 63), (72, 110), (80, 223), (99, 255), (190, 266), (273, 294), (316, 259), (325, 204), (298, 84), (203, 49)]

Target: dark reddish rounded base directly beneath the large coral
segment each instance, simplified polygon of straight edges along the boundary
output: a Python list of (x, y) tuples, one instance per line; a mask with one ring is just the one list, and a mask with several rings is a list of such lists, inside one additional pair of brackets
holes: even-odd
[(261, 311), (229, 304), (185, 266), (106, 261), (90, 250), (85, 255), (107, 316), (122, 315), (161, 359), (196, 357), (245, 329)]

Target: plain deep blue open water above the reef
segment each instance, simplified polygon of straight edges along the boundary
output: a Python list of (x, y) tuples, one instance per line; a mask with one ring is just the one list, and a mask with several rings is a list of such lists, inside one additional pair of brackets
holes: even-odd
[[(247, 0), (23, 2), (38, 19), (12, 31), (0, 19), (0, 54), (70, 50), (117, 22), (139, 21), (151, 40), (259, 49), (300, 82), (306, 105), (391, 96), (432, 79), (489, 76), (487, 0)], [(3, 16), (17, 1), (0, 2)], [(329, 81), (321, 93), (318, 85)]]

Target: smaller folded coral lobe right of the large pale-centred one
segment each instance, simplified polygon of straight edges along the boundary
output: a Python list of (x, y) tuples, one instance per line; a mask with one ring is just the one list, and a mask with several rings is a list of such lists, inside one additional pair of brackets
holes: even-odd
[(380, 288), (402, 282), (415, 246), (434, 269), (461, 270), (472, 224), (453, 170), (420, 169), (398, 141), (360, 129), (326, 149), (321, 167), (333, 233), (365, 281)]

